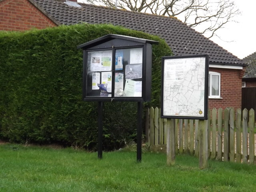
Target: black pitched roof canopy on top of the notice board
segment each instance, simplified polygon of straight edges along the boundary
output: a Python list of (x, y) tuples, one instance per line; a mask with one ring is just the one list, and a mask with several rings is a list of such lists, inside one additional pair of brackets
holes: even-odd
[(124, 35), (116, 35), (116, 34), (108, 34), (105, 36), (102, 36), (100, 38), (94, 39), (92, 41), (86, 42), (84, 44), (78, 45), (77, 48), (87, 49), (91, 48), (93, 46), (97, 46), (98, 44), (103, 44), (105, 42), (108, 42), (113, 39), (120, 39), (120, 40), (128, 40), (132, 42), (138, 42), (138, 43), (149, 43), (149, 44), (158, 44), (158, 41), (154, 40), (148, 40), (148, 39), (142, 39), (142, 38), (136, 38), (136, 37), (130, 37), (130, 36), (124, 36)]

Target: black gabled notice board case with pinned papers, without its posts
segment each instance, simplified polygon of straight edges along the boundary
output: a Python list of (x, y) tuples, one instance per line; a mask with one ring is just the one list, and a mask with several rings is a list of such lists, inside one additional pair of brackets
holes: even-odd
[(84, 50), (85, 101), (150, 101), (152, 44), (108, 34), (78, 46)]

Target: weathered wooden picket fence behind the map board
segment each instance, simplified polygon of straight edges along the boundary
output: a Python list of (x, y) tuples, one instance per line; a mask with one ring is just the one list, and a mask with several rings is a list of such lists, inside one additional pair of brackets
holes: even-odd
[[(204, 120), (208, 138), (208, 158), (256, 163), (256, 124), (254, 110), (241, 111), (233, 108), (208, 111)], [(150, 146), (166, 145), (166, 119), (160, 118), (160, 109), (150, 108), (146, 112), (146, 139)], [(199, 120), (175, 120), (175, 151), (198, 156)]]

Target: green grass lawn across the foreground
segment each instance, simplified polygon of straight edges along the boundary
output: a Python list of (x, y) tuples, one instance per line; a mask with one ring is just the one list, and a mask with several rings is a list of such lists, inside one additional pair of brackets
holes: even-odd
[(256, 191), (256, 166), (209, 161), (200, 170), (198, 159), (136, 152), (96, 152), (46, 147), (0, 145), (1, 192), (244, 192)]

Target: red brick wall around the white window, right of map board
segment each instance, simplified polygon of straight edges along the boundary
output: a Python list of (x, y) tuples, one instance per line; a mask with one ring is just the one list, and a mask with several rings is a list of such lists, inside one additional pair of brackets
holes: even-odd
[(242, 106), (242, 70), (210, 68), (212, 72), (220, 73), (220, 99), (209, 98), (209, 108), (233, 107), (234, 109)]

